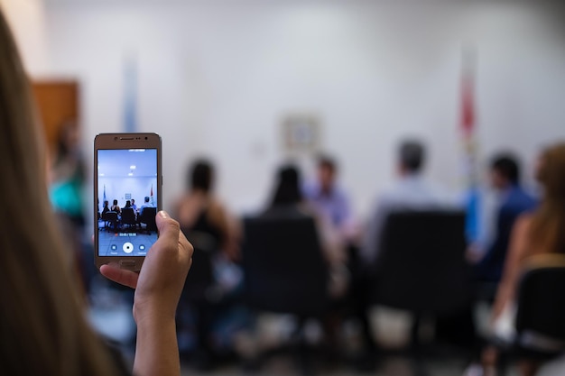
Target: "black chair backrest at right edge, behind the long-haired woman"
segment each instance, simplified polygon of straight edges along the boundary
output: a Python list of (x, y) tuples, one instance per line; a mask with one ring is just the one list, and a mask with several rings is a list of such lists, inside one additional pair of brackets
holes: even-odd
[(516, 331), (565, 342), (565, 256), (524, 272), (517, 294)]

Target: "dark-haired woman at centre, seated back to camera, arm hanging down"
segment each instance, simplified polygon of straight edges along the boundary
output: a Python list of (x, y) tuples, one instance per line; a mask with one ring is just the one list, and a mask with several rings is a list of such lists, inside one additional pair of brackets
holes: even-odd
[(347, 253), (342, 242), (337, 236), (335, 227), (325, 216), (319, 216), (302, 196), (301, 175), (299, 170), (292, 166), (283, 166), (277, 175), (277, 183), (274, 189), (270, 205), (265, 209), (264, 216), (276, 216), (278, 213), (285, 215), (291, 211), (297, 217), (313, 217), (320, 236), (320, 243), (326, 261), (329, 264), (330, 280), (329, 292), (333, 298), (339, 298), (345, 294), (348, 286), (348, 272), (345, 268)]

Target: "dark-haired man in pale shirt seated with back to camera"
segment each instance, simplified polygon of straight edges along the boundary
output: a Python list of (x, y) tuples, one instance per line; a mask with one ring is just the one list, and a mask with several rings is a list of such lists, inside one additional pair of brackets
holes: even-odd
[(398, 148), (398, 180), (377, 198), (373, 216), (366, 228), (360, 256), (366, 264), (375, 262), (379, 252), (386, 217), (396, 210), (431, 210), (457, 208), (455, 197), (438, 184), (421, 176), (426, 151), (421, 142), (403, 141)]

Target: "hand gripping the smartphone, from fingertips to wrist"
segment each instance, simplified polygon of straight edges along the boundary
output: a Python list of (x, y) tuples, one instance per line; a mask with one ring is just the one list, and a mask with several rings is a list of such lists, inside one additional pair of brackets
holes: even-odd
[(113, 264), (100, 268), (108, 280), (135, 289), (134, 319), (138, 324), (148, 315), (174, 317), (192, 263), (193, 248), (179, 223), (163, 211), (157, 214), (156, 223), (159, 239), (147, 252), (139, 274)]

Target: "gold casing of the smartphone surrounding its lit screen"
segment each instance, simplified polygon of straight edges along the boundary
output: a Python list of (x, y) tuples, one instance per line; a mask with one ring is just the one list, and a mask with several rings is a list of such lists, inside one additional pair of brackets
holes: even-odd
[(99, 133), (94, 139), (94, 263), (102, 265), (115, 262), (122, 269), (140, 271), (145, 256), (98, 255), (98, 152), (99, 150), (156, 149), (157, 150), (157, 211), (162, 210), (162, 139), (157, 133)]

